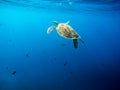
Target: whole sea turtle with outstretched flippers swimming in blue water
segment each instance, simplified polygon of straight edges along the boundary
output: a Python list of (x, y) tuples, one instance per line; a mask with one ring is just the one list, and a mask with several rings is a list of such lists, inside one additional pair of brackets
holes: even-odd
[(73, 40), (74, 47), (78, 47), (78, 39), (81, 39), (80, 35), (70, 26), (68, 25), (70, 21), (66, 23), (59, 23), (57, 21), (53, 21), (56, 26), (50, 26), (47, 29), (47, 33), (49, 34), (52, 30), (57, 30), (57, 33), (64, 37)]

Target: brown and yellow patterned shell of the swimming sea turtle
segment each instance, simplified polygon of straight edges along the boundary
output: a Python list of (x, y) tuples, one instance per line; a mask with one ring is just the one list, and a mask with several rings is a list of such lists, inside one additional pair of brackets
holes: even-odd
[(56, 27), (58, 34), (68, 39), (78, 39), (80, 36), (77, 32), (68, 24), (60, 23)]

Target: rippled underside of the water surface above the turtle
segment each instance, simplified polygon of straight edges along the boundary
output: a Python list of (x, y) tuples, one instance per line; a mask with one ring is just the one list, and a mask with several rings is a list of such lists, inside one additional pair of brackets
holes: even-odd
[(1, 0), (0, 2), (1, 4), (51, 10), (120, 10), (120, 0)]

